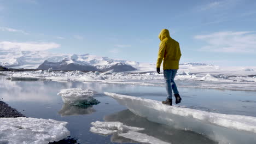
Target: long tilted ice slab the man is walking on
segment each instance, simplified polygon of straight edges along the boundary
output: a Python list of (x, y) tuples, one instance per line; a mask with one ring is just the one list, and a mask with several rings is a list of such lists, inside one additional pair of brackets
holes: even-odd
[(160, 101), (106, 93), (136, 115), (206, 135), (219, 143), (255, 143), (256, 118), (162, 105)]

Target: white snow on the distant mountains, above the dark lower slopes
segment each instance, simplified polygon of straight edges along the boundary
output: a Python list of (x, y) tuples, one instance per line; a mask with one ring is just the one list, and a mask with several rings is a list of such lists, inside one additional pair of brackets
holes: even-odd
[[(37, 69), (44, 61), (62, 62), (67, 64), (92, 65), (98, 69), (109, 68), (115, 64), (139, 65), (138, 62), (112, 59), (95, 55), (49, 53), (46, 51), (22, 51), (20, 49), (0, 49), (0, 65), (7, 68)], [(49, 71), (50, 72), (50, 71)]]

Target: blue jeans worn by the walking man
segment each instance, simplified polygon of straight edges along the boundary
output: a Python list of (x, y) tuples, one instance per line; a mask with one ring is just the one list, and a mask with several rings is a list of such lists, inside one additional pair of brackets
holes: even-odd
[(165, 69), (164, 77), (165, 77), (165, 87), (167, 91), (167, 98), (172, 99), (172, 91), (174, 94), (179, 93), (176, 83), (174, 82), (174, 77), (177, 73), (177, 69)]

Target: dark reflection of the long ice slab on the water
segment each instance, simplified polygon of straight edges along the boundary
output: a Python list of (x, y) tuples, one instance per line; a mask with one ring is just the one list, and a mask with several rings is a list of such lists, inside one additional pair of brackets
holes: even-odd
[[(170, 143), (217, 143), (208, 139), (206, 136), (196, 134), (193, 131), (174, 129), (168, 125), (150, 122), (146, 118), (133, 114), (130, 110), (123, 110), (118, 113), (105, 116), (104, 121), (118, 121), (128, 126), (144, 128), (145, 130), (139, 131), (139, 133), (144, 133)], [(129, 142), (130, 140), (118, 135), (113, 135), (111, 137), (111, 141)]]

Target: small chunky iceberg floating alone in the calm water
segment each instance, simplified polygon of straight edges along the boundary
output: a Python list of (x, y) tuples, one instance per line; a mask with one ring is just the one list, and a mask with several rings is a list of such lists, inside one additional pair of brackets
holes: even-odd
[(61, 95), (63, 103), (77, 105), (83, 107), (83, 105), (94, 105), (100, 103), (96, 99), (92, 98), (95, 91), (82, 88), (68, 88), (61, 89), (57, 95)]

